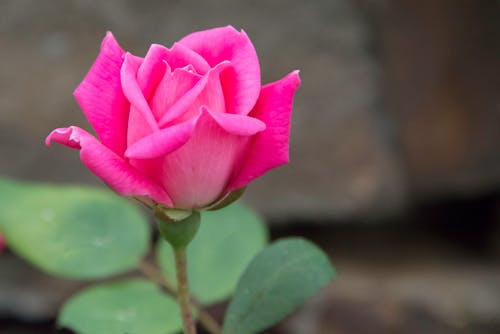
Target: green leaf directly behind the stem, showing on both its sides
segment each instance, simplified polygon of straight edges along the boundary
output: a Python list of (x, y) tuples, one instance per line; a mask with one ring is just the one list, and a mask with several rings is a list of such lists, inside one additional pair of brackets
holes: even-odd
[[(253, 210), (235, 203), (222, 210), (201, 213), (201, 225), (188, 246), (189, 285), (202, 304), (228, 298), (251, 259), (267, 243), (267, 229)], [(164, 274), (175, 282), (171, 247), (158, 243)]]

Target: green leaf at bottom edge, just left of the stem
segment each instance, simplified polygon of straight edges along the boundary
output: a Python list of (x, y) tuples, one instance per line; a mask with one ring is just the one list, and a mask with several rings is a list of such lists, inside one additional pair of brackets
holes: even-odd
[(175, 300), (143, 279), (102, 284), (78, 293), (63, 306), (58, 323), (79, 334), (168, 334), (182, 330)]

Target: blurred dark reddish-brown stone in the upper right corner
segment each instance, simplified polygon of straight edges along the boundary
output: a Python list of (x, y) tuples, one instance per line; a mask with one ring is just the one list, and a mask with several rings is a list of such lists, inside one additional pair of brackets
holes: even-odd
[(410, 188), (427, 197), (498, 189), (498, 2), (382, 3), (387, 110)]

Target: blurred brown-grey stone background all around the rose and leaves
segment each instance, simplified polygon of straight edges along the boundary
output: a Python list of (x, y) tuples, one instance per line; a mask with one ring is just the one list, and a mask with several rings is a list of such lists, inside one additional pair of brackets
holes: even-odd
[[(244, 201), (273, 238), (314, 240), (339, 272), (270, 332), (499, 333), (498, 1), (4, 0), (0, 175), (99, 185), (43, 140), (90, 129), (72, 91), (105, 32), (144, 55), (226, 24), (252, 39), (264, 83), (302, 78), (292, 162)], [(0, 333), (54, 332), (77, 288), (1, 254)]]

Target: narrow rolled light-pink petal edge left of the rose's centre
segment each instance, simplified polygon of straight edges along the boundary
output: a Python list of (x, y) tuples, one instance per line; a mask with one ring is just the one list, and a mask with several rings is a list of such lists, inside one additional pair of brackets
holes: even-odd
[(125, 61), (123, 62), (120, 72), (122, 89), (127, 99), (137, 108), (137, 111), (139, 111), (149, 125), (151, 131), (154, 131), (158, 130), (158, 124), (156, 124), (153, 113), (136, 79), (136, 74), (141, 64), (141, 58), (135, 57), (128, 52), (125, 54)]

